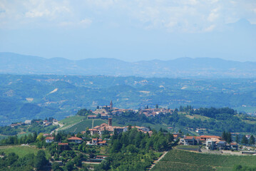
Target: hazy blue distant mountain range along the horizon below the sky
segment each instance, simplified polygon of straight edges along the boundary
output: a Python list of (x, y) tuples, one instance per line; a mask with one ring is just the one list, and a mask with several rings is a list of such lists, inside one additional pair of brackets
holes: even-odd
[(115, 58), (41, 58), (0, 53), (0, 73), (143, 76), (168, 78), (256, 78), (255, 62), (220, 58), (177, 58), (170, 61), (126, 62)]

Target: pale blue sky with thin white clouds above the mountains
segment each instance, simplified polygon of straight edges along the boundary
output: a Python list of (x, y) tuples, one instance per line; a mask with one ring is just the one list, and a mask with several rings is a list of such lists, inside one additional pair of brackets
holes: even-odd
[(256, 61), (256, 1), (1, 0), (0, 52)]

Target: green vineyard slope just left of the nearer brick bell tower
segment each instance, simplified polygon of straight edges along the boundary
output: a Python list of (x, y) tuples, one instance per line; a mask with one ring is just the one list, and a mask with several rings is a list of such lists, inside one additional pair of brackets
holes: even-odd
[(93, 126), (96, 125), (101, 125), (101, 123), (106, 123), (106, 120), (102, 120), (102, 119), (95, 119), (93, 120), (83, 120), (81, 123), (78, 123), (76, 125), (73, 125), (71, 128), (66, 129), (65, 131), (68, 133), (79, 133), (81, 131), (86, 130), (86, 128), (91, 128), (92, 127), (92, 123)]

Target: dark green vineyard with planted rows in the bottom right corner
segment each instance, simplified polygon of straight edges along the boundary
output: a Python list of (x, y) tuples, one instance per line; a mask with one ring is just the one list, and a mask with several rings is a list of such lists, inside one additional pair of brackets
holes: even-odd
[(256, 166), (256, 156), (213, 155), (170, 150), (153, 170), (232, 170), (235, 165)]

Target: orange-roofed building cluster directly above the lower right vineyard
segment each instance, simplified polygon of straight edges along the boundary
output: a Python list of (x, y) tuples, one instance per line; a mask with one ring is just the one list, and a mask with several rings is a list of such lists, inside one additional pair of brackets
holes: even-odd
[(200, 135), (200, 136), (185, 136), (180, 138), (180, 145), (205, 145), (208, 150), (227, 149), (238, 150), (236, 142), (228, 144), (225, 140), (222, 140), (219, 136), (215, 135)]

